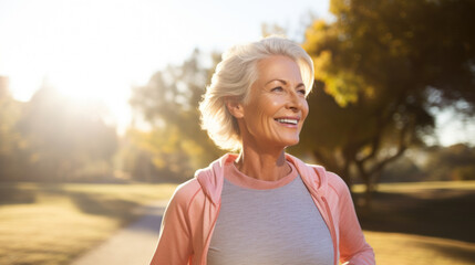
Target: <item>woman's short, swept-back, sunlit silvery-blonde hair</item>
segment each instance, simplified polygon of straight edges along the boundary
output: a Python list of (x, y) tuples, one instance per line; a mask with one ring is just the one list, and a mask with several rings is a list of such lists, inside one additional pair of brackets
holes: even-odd
[(257, 63), (272, 55), (292, 59), (300, 68), (306, 95), (313, 87), (313, 62), (297, 43), (281, 36), (268, 36), (258, 42), (236, 45), (223, 54), (203, 102), (202, 128), (223, 149), (239, 150), (241, 139), (236, 118), (226, 107), (227, 99), (246, 103), (250, 87), (258, 78)]

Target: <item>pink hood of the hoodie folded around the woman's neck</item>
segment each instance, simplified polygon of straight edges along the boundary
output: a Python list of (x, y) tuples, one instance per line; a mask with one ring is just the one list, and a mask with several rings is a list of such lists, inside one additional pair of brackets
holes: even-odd
[[(224, 183), (224, 166), (235, 161), (238, 155), (236, 153), (227, 153), (211, 162), (207, 168), (200, 169), (195, 173), (195, 178), (202, 186), (204, 193), (215, 205), (220, 203)], [(288, 153), (286, 153), (286, 160), (297, 168), (300, 178), (312, 194), (316, 197), (326, 195), (328, 180), (323, 167), (307, 165)]]

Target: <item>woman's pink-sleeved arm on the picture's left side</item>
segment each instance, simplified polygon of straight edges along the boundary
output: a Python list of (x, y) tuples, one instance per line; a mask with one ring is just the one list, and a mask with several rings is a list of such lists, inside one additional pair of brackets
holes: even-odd
[(185, 265), (193, 255), (187, 216), (190, 195), (182, 188), (183, 186), (178, 187), (165, 210), (158, 245), (151, 265)]

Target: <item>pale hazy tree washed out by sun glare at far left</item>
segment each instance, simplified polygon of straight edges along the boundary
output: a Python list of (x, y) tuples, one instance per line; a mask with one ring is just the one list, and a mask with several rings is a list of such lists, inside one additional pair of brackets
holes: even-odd
[(25, 105), (18, 129), (28, 149), (23, 179), (96, 181), (112, 177), (116, 132), (104, 124), (100, 106), (82, 105), (43, 85)]

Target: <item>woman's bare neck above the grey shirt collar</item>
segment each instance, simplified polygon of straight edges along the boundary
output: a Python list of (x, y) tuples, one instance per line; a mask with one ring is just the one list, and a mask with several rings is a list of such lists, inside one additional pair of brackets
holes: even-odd
[(291, 170), (286, 162), (285, 150), (271, 152), (244, 146), (235, 162), (237, 169), (244, 174), (266, 181), (279, 180)]

